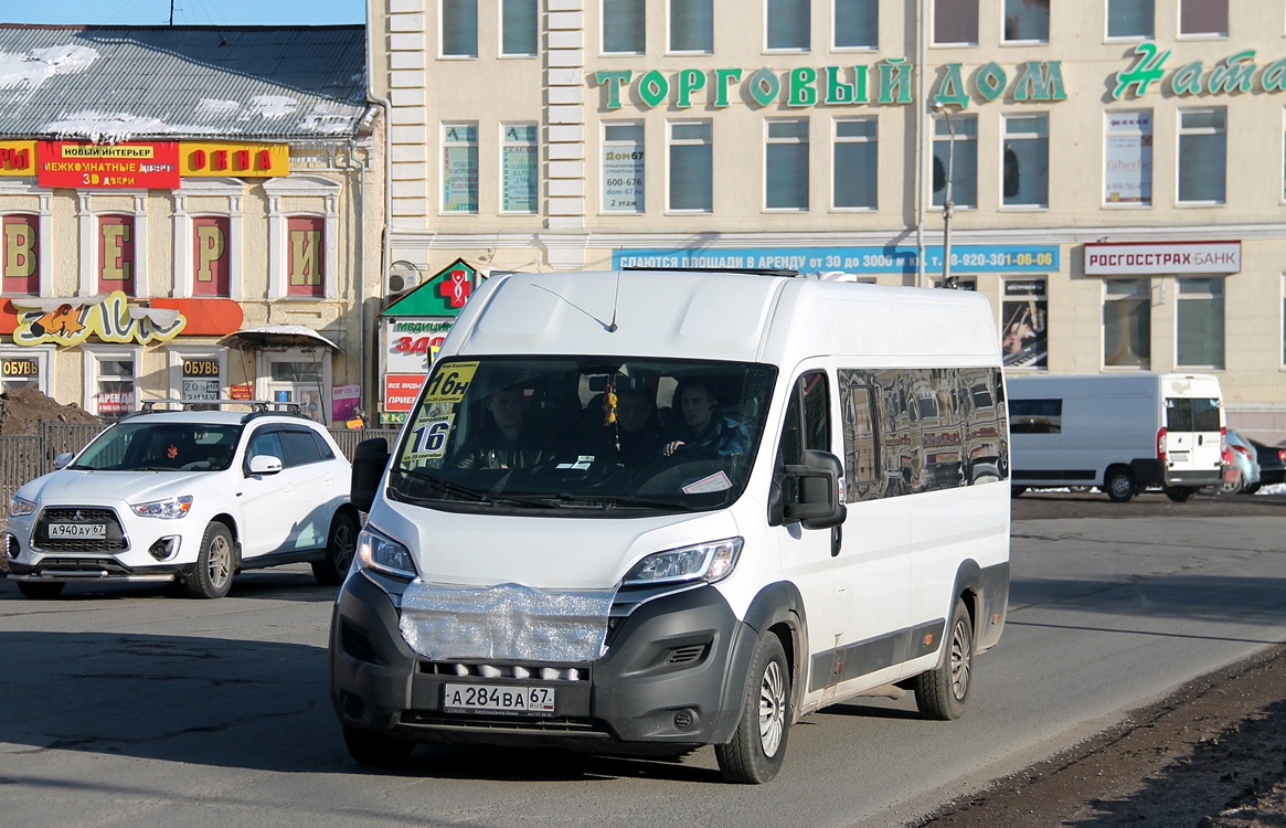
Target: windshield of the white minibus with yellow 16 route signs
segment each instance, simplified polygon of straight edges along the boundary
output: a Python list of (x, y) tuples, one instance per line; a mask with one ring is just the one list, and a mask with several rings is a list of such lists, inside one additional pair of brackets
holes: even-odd
[(746, 487), (775, 378), (743, 363), (444, 360), (410, 413), (390, 495), (493, 513), (718, 509)]

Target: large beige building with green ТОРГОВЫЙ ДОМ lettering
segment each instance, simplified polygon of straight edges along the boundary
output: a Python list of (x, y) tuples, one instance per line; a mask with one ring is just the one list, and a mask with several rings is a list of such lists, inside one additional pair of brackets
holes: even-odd
[(403, 267), (945, 279), (992, 300), (1011, 370), (1209, 372), (1233, 424), (1286, 437), (1281, 4), (368, 14)]

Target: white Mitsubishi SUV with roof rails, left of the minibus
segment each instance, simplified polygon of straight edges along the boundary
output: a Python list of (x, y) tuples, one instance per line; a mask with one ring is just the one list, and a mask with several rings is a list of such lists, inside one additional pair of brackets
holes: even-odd
[(359, 526), (349, 462), (318, 423), (238, 405), (255, 410), (148, 402), (57, 458), (9, 503), (9, 579), (28, 598), (174, 580), (222, 598), (240, 570), (307, 561), (319, 582), (340, 584)]

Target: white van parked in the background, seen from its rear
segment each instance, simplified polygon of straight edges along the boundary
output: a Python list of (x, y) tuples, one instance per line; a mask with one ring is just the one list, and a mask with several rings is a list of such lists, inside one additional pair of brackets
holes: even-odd
[(1209, 374), (1010, 377), (1013, 490), (1100, 486), (1184, 501), (1220, 482), (1223, 395)]

